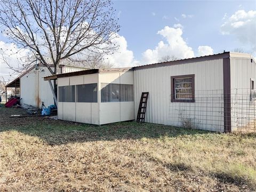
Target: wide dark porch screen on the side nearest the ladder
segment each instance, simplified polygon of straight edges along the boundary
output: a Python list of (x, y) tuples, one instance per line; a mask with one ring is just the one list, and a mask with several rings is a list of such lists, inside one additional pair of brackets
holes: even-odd
[(133, 85), (101, 83), (101, 102), (133, 101)]

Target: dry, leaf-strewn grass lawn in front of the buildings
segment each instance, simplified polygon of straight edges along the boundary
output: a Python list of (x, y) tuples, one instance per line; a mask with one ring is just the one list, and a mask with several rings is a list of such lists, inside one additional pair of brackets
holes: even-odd
[(256, 134), (45, 117), (0, 107), (0, 191), (255, 191)]

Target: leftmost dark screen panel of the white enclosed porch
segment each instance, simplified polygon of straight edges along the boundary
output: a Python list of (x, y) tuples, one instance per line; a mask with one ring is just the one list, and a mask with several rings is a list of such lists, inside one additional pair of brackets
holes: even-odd
[(75, 85), (59, 86), (59, 102), (75, 102)]

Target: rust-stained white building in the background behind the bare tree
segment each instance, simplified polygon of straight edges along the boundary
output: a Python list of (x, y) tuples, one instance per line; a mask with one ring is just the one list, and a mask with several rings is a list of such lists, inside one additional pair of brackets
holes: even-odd
[[(54, 69), (53, 66), (51, 68)], [(84, 69), (81, 67), (60, 65), (59, 73), (70, 73)], [(43, 101), (47, 107), (54, 104), (50, 84), (43, 79), (44, 76), (48, 75), (51, 75), (51, 73), (45, 66), (41, 64), (38, 66), (34, 65), (15, 78), (11, 83), (7, 84), (6, 88), (14, 87), (15, 89), (19, 89), (20, 98), (22, 98), (20, 101), (21, 105), (26, 103), (27, 105), (41, 108)]]

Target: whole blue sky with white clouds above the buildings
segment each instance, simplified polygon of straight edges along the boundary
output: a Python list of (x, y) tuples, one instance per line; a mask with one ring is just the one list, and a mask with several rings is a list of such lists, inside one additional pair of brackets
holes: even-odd
[[(115, 67), (237, 48), (256, 55), (256, 1), (114, 1), (113, 6), (121, 25), (114, 40), (119, 49), (108, 57)], [(0, 34), (0, 47), (11, 47), (4, 40)], [(15, 57), (19, 55), (9, 61), (14, 63)], [(1, 75), (10, 73), (0, 65)]]

